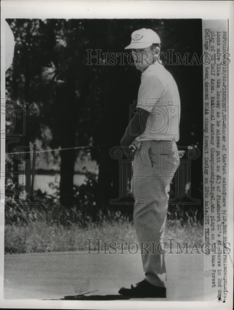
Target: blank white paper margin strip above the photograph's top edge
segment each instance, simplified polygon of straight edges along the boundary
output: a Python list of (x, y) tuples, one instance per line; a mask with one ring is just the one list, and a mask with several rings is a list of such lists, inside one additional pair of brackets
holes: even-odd
[[(231, 1), (2, 0), (5, 18), (227, 18)], [(46, 13), (45, 13), (46, 12)]]

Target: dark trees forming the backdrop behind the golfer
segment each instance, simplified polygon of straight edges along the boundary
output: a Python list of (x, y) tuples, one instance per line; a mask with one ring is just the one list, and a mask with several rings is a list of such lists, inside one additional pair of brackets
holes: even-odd
[[(98, 206), (109, 206), (119, 194), (119, 163), (110, 157), (119, 145), (129, 121), (129, 106), (137, 100), (141, 73), (131, 64), (87, 65), (87, 49), (123, 53), (131, 33), (154, 29), (162, 52), (173, 49), (183, 55), (202, 53), (201, 20), (7, 20), (15, 36), (13, 64), (6, 73), (6, 96), (26, 108), (26, 135), (22, 146), (41, 139), (47, 148), (60, 151), (60, 201), (74, 202), (75, 147), (90, 145), (98, 163)], [(170, 56), (169, 56), (170, 58)], [(177, 82), (181, 98), (180, 141), (202, 148), (202, 65), (170, 65), (166, 68)], [(52, 139), (45, 139), (45, 128)], [(17, 163), (14, 165), (16, 169)], [(191, 194), (201, 200), (202, 157), (192, 162)], [(97, 206), (97, 208), (98, 208)], [(120, 207), (120, 206), (119, 206)], [(112, 206), (111, 206), (112, 208)], [(122, 211), (126, 210), (121, 207)], [(191, 206), (193, 208), (193, 206)], [(131, 208), (125, 211), (129, 213)]]

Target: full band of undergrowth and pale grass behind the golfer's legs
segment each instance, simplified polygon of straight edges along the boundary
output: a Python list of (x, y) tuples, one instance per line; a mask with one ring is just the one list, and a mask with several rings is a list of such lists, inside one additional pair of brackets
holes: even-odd
[[(87, 251), (86, 239), (101, 238), (102, 242), (137, 242), (132, 215), (102, 205), (98, 200), (98, 179), (86, 172), (85, 184), (74, 186), (73, 204), (64, 207), (58, 197), (37, 191), (37, 197), (15, 203), (14, 196), (5, 197), (5, 253), (40, 253), (54, 251)], [(56, 184), (50, 184), (58, 191)], [(15, 184), (9, 185), (11, 189)], [(56, 198), (56, 199), (55, 199)], [(203, 242), (201, 225), (203, 206), (170, 205), (167, 214), (165, 241), (188, 242), (190, 247)], [(154, 240), (152, 240), (154, 241)], [(94, 241), (95, 242), (95, 241)], [(168, 242), (168, 241), (167, 241)], [(103, 249), (103, 243), (101, 243)], [(176, 246), (176, 245), (175, 245)], [(108, 247), (107, 247), (108, 248)]]

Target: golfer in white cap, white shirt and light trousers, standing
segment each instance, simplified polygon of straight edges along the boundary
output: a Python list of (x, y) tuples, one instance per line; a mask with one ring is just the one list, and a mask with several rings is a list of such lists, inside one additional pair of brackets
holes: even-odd
[(163, 236), (170, 183), (176, 171), (180, 96), (171, 73), (160, 63), (160, 38), (151, 29), (132, 33), (130, 45), (141, 73), (136, 113), (121, 139), (125, 155), (132, 148), (141, 156), (132, 161), (133, 220), (141, 248), (145, 278), (119, 294), (132, 297), (166, 297)]

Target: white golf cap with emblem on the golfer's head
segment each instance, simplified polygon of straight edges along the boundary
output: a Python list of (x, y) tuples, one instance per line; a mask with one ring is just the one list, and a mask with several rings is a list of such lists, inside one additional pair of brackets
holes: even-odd
[(152, 29), (142, 28), (132, 33), (132, 41), (124, 49), (145, 48), (153, 43), (161, 43), (159, 36)]

